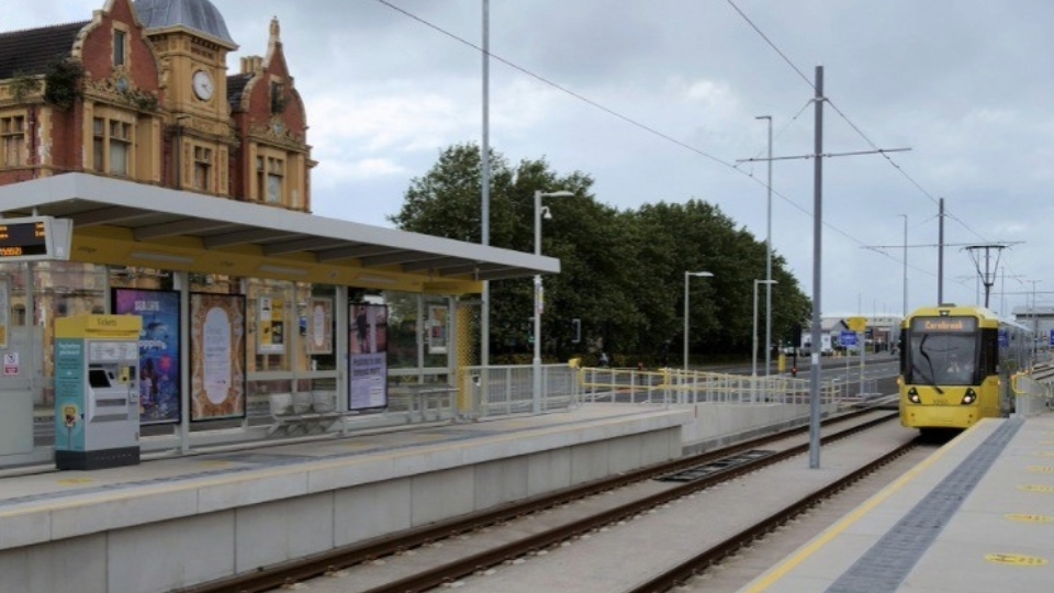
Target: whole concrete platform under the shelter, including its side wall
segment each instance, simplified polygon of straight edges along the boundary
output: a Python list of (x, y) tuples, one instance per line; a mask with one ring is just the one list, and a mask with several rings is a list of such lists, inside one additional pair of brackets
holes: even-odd
[(540, 416), (0, 478), (0, 591), (171, 591), (679, 457), (691, 412)]

